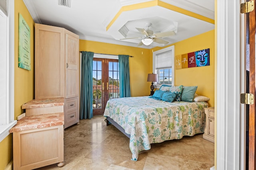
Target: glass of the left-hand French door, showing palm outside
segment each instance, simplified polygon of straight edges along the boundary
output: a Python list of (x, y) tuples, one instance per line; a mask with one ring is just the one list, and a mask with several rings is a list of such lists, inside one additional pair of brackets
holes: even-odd
[(102, 107), (102, 62), (93, 61), (92, 67), (92, 86), (93, 86), (93, 109)]

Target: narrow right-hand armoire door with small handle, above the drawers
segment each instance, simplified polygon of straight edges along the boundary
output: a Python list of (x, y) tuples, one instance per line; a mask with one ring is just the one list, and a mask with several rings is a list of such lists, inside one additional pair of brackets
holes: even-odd
[(66, 33), (66, 98), (79, 96), (79, 38)]

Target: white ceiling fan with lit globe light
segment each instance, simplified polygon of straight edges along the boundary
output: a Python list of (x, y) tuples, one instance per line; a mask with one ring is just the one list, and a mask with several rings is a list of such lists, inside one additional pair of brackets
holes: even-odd
[(141, 46), (143, 44), (150, 45), (151, 43), (153, 43), (153, 41), (161, 45), (167, 45), (169, 42), (163, 39), (160, 39), (160, 37), (168, 37), (168, 36), (176, 35), (174, 31), (166, 31), (166, 32), (154, 34), (152, 30), (148, 29), (151, 25), (152, 25), (151, 23), (146, 23), (146, 27), (147, 27), (146, 30), (143, 28), (136, 28), (142, 34), (142, 37), (133, 37), (133, 38), (124, 38), (124, 39), (136, 39), (136, 38), (142, 39), (140, 43), (138, 43), (138, 46)]

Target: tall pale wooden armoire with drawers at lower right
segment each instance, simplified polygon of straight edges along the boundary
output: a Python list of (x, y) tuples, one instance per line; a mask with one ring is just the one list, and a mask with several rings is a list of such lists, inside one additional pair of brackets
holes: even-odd
[(64, 128), (79, 124), (79, 36), (35, 24), (35, 99), (64, 98)]

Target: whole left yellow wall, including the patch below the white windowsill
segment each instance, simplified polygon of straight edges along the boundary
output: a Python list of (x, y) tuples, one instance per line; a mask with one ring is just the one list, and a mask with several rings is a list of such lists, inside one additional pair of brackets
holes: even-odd
[[(14, 1), (14, 119), (22, 113), (21, 106), (34, 98), (34, 21), (23, 0)], [(18, 67), (18, 17), (22, 14), (30, 27), (31, 71)], [(12, 160), (12, 134), (0, 143), (0, 170)]]

